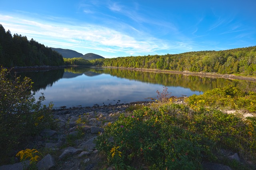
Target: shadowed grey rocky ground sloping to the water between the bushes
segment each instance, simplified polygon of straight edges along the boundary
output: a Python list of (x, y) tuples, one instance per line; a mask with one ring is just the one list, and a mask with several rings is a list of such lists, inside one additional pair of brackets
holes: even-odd
[[(184, 97), (176, 98), (184, 103)], [(58, 108), (53, 110), (60, 126), (58, 130), (44, 130), (31, 140), (28, 148), (41, 148), (42, 160), (37, 163), (39, 170), (113, 170), (106, 166), (105, 158), (96, 150), (93, 140), (104, 132), (104, 126), (114, 122), (121, 113), (130, 114), (140, 105), (151, 102), (134, 102), (109, 106)], [(230, 159), (240, 161), (238, 154), (228, 153)], [(26, 162), (29, 164), (29, 162)], [(231, 170), (221, 164), (205, 163), (204, 170)], [(0, 166), (0, 170), (22, 170), (22, 164)]]

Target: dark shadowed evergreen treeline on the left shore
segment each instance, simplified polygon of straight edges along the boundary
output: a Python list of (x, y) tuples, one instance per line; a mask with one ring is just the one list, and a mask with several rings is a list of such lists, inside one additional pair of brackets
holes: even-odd
[(26, 36), (5, 31), (0, 24), (0, 65), (14, 66), (60, 66), (64, 65), (61, 54)]

